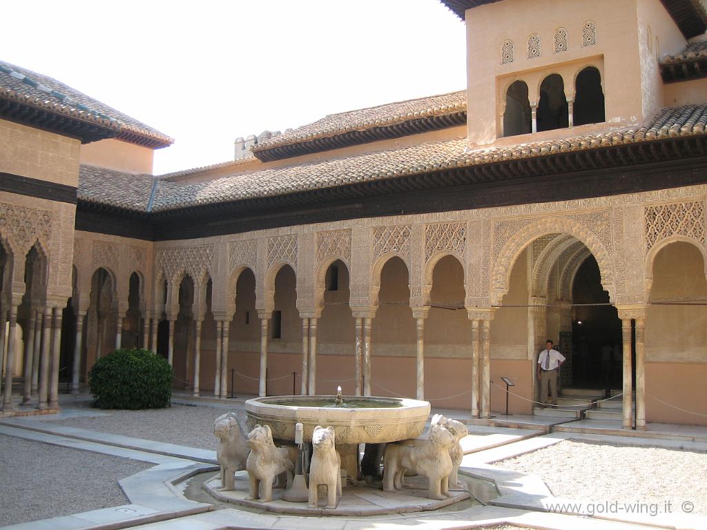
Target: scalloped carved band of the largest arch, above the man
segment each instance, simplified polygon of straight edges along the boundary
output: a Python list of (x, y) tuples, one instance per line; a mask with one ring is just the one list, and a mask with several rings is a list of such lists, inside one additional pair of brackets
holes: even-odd
[(550, 217), (532, 221), (515, 232), (506, 244), (503, 245), (501, 252), (498, 253), (498, 257), (496, 257), (493, 264), (490, 288), (491, 303), (501, 303), (503, 296), (508, 293), (508, 289), (510, 288), (510, 273), (513, 269), (513, 264), (515, 264), (515, 261), (525, 247), (530, 245), (534, 240), (537, 240), (538, 237), (554, 233), (571, 235), (583, 242), (597, 260), (602, 278), (602, 286), (604, 290), (609, 292), (609, 300), (614, 300), (616, 293), (614, 292), (612, 260), (597, 235), (575, 220), (563, 217)]

